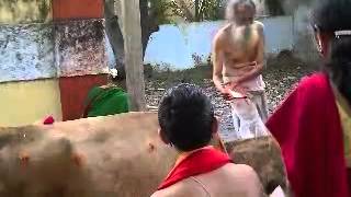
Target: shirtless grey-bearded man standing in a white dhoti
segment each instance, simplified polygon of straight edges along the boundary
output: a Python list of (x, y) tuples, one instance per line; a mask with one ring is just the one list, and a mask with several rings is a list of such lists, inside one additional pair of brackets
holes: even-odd
[[(234, 99), (231, 91), (240, 93), (237, 95), (241, 99), (250, 99), (265, 121), (265, 84), (261, 76), (264, 66), (263, 24), (253, 21), (256, 5), (251, 0), (229, 0), (226, 12), (229, 24), (219, 30), (213, 42), (214, 84), (227, 101)], [(242, 112), (242, 105), (239, 104), (239, 109), (237, 101), (230, 102), (236, 132), (242, 125), (238, 113)], [(241, 135), (242, 138), (248, 136)]]

